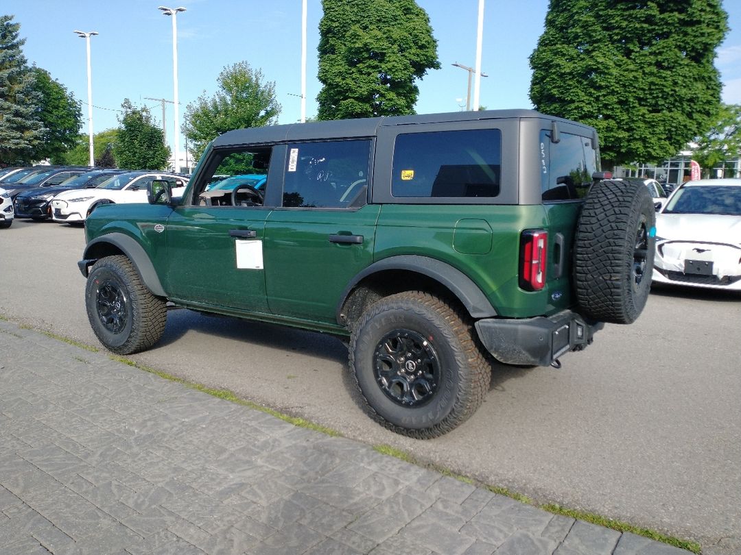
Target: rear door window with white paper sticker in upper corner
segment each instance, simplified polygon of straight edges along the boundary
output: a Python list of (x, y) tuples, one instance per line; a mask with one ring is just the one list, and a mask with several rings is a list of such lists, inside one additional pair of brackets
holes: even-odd
[(371, 141), (288, 145), (283, 206), (352, 208), (365, 204)]

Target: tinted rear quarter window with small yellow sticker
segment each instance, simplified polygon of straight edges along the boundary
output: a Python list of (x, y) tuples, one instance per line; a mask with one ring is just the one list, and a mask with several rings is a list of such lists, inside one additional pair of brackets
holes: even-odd
[(393, 150), (394, 197), (496, 197), (502, 175), (499, 129), (405, 133)]

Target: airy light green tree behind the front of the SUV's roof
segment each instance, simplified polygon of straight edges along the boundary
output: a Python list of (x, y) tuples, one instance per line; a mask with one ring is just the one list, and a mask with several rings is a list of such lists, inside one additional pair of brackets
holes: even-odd
[(275, 82), (265, 82), (262, 71), (253, 70), (246, 61), (225, 67), (216, 81), (219, 90), (213, 97), (204, 91), (185, 109), (182, 129), (196, 160), (222, 133), (274, 124), (281, 111)]

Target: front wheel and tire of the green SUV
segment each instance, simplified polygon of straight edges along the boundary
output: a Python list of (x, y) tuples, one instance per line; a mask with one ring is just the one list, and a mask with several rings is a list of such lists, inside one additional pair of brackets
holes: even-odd
[(87, 318), (109, 351), (131, 354), (154, 346), (165, 332), (165, 300), (144, 286), (139, 272), (123, 256), (101, 258), (85, 286)]

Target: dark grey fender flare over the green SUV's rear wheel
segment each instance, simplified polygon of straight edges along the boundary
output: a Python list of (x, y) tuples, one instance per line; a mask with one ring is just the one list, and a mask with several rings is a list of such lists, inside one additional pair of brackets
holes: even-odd
[(371, 266), (368, 266), (353, 277), (353, 280), (345, 287), (345, 291), (342, 292), (342, 297), (340, 297), (337, 304), (335, 313), (337, 323), (342, 325), (342, 306), (345, 305), (345, 301), (348, 300), (348, 296), (355, 289), (355, 286), (364, 280), (365, 277), (386, 270), (406, 270), (431, 277), (433, 280), (450, 289), (453, 295), (463, 303), (463, 306), (465, 306), (468, 314), (471, 314), (471, 317), (487, 318), (496, 316), (494, 306), (491, 306), (491, 303), (479, 286), (473, 283), (473, 280), (459, 269), (436, 258), (419, 255), (396, 255), (372, 263)]

